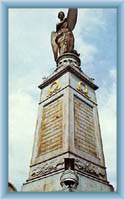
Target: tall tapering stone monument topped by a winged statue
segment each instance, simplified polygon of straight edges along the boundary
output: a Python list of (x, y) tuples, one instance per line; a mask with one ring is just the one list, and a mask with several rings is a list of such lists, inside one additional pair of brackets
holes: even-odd
[(56, 62), (40, 85), (39, 111), (24, 192), (110, 192), (95, 85), (74, 49), (77, 9), (61, 11), (51, 34)]

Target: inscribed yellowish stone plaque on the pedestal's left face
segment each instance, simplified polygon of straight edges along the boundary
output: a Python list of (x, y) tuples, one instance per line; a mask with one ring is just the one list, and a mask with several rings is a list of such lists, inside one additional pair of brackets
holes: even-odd
[(62, 97), (43, 107), (39, 133), (38, 156), (62, 147), (63, 108)]

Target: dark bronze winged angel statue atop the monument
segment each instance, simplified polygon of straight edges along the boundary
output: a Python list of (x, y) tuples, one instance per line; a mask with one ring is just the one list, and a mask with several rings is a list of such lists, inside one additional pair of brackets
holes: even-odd
[(60, 11), (58, 18), (60, 22), (56, 25), (56, 32), (51, 33), (51, 45), (55, 61), (58, 56), (64, 53), (72, 52), (78, 55), (74, 50), (74, 36), (72, 33), (77, 21), (77, 8), (69, 8), (66, 18), (64, 12)]

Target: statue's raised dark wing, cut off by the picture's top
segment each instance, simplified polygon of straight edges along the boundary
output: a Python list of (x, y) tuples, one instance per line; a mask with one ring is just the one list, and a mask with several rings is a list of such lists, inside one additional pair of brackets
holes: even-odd
[(69, 8), (67, 14), (67, 24), (68, 28), (72, 31), (76, 25), (77, 21), (77, 8)]

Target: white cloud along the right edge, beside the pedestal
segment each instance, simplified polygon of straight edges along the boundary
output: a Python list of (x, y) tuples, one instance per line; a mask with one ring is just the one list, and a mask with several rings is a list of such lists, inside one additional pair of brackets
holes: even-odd
[(111, 69), (107, 76), (113, 84), (108, 89), (101, 86), (98, 109), (108, 180), (116, 189), (116, 70)]

